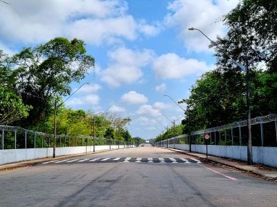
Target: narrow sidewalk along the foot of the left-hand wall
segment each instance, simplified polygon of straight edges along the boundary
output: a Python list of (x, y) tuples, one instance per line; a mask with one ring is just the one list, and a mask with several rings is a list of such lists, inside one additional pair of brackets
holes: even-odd
[[(117, 150), (117, 149), (112, 149), (112, 150)], [(106, 152), (109, 150), (99, 150), (96, 152), (87, 152), (86, 153), (81, 153), (81, 154), (74, 154), (74, 155), (62, 155), (62, 156), (58, 156), (58, 157), (45, 157), (45, 158), (41, 158), (41, 159), (31, 159), (31, 160), (27, 160), (27, 161), (18, 161), (18, 162), (14, 162), (14, 163), (10, 163), (10, 164), (3, 164), (0, 165), (0, 172), (4, 171), (4, 170), (12, 170), (15, 168), (24, 168), (24, 167), (28, 167), (28, 166), (33, 166), (37, 163), (40, 162), (44, 162), (44, 161), (51, 161), (51, 160), (60, 160), (60, 159), (66, 159), (66, 158), (70, 158), (70, 157), (80, 157), (80, 156), (84, 156), (84, 155), (92, 155), (92, 154), (96, 154), (99, 152)]]

